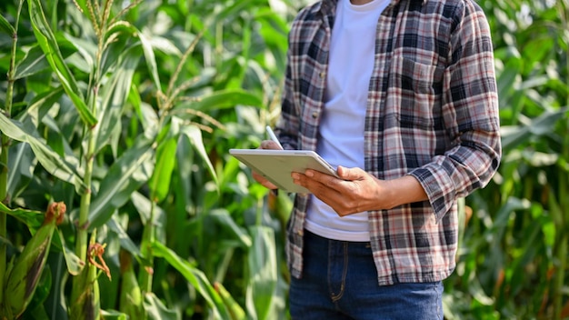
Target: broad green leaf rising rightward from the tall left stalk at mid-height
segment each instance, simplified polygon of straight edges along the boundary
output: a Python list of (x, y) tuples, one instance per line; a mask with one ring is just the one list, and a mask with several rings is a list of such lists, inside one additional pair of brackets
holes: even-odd
[(89, 208), (89, 228), (92, 230), (111, 218), (116, 208), (125, 205), (130, 196), (150, 178), (155, 150), (152, 141), (141, 137), (109, 168), (94, 195)]

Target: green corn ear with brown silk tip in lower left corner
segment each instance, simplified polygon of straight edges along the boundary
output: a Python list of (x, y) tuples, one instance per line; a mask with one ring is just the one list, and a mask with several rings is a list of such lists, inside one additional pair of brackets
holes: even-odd
[(45, 212), (44, 224), (25, 245), (24, 251), (6, 271), (2, 318), (15, 319), (22, 315), (32, 300), (44, 270), (55, 227), (64, 219), (65, 204), (53, 203)]

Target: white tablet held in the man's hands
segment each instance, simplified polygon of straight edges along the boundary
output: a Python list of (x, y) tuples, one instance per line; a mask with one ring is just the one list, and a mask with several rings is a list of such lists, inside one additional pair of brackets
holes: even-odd
[(338, 177), (335, 168), (314, 151), (231, 149), (229, 154), (286, 192), (310, 193), (303, 186), (294, 185), (293, 172), (304, 173), (306, 169), (314, 169)]

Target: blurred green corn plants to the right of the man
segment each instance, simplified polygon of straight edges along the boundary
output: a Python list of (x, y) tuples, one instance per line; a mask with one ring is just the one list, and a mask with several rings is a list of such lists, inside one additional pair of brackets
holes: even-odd
[(569, 316), (569, 4), (483, 1), (494, 34), (504, 158), (469, 197), (454, 318)]

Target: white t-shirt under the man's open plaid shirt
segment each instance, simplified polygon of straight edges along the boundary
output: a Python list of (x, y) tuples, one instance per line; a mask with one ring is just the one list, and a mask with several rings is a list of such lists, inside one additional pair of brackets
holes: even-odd
[[(377, 20), (390, 0), (339, 0), (332, 28), (317, 151), (331, 165), (364, 168), (364, 125)], [(367, 212), (340, 217), (314, 195), (304, 227), (335, 240), (369, 241)]]

